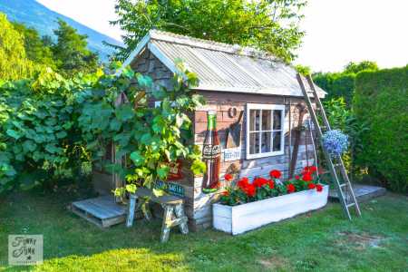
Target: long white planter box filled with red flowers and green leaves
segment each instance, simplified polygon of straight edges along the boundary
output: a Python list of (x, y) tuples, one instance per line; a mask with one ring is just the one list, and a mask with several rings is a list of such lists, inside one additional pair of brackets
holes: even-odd
[(213, 204), (214, 228), (237, 235), (327, 203), (328, 186), (319, 183), (316, 167), (308, 167), (295, 179), (283, 182), (277, 170), (270, 176), (269, 180), (256, 178), (252, 182), (243, 178), (226, 190), (220, 203)]

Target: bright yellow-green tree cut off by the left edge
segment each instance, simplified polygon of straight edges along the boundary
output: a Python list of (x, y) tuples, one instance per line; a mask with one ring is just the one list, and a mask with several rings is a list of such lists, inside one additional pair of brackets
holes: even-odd
[(34, 63), (25, 54), (24, 37), (0, 13), (0, 80), (16, 80), (34, 73)]

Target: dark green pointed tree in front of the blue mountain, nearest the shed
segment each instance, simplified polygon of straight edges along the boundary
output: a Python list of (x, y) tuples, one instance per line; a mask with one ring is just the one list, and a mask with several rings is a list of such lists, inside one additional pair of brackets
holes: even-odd
[(76, 29), (61, 19), (58, 19), (58, 25), (58, 29), (53, 31), (57, 42), (53, 44), (52, 50), (60, 73), (73, 75), (96, 71), (98, 56), (87, 48), (87, 35), (78, 34)]

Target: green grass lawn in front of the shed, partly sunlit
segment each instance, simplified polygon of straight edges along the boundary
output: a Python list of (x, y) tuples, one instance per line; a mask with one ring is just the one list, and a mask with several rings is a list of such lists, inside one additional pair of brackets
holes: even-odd
[[(170, 233), (160, 221), (102, 230), (66, 209), (74, 193), (15, 193), (0, 199), (0, 270), (8, 234), (44, 234), (39, 271), (408, 271), (408, 198), (362, 204), (363, 217), (345, 220), (338, 204), (238, 237), (207, 230)], [(25, 267), (26, 269), (27, 267)]]

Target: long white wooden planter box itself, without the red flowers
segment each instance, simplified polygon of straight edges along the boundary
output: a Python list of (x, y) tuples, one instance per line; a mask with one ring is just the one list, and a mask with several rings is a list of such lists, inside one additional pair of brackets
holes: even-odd
[(213, 204), (213, 226), (237, 235), (271, 222), (289, 219), (327, 204), (328, 185), (321, 192), (308, 189), (284, 196), (263, 199), (238, 206)]

